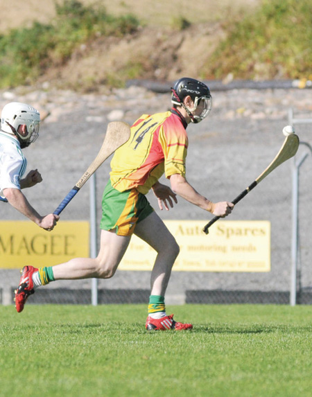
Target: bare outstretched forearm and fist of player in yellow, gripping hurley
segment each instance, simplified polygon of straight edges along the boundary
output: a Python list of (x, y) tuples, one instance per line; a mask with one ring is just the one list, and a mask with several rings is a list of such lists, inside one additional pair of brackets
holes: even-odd
[(217, 202), (213, 203), (206, 197), (200, 195), (193, 186), (187, 182), (187, 179), (180, 174), (174, 174), (170, 177), (172, 190), (180, 197), (184, 198), (191, 204), (199, 206), (201, 209), (211, 212), (216, 216), (224, 218), (232, 212), (234, 204), (230, 202)]

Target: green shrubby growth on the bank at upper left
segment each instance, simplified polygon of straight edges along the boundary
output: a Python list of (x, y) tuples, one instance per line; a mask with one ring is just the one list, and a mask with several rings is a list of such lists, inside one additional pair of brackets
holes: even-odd
[(123, 37), (137, 30), (134, 15), (114, 17), (100, 2), (84, 6), (78, 0), (55, 2), (51, 24), (33, 23), (0, 35), (0, 88), (33, 84), (49, 67), (62, 67), (80, 45), (99, 37)]

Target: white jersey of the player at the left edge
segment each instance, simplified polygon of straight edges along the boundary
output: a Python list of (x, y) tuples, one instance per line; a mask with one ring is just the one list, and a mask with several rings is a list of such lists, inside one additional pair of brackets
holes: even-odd
[(27, 166), (27, 160), (21, 152), (19, 141), (0, 131), (0, 196), (4, 188), (20, 190), (20, 179)]

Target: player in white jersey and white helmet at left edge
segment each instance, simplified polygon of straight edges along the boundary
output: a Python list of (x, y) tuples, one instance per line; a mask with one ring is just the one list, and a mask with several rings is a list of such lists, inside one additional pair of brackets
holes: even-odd
[[(51, 231), (59, 219), (58, 215), (40, 215), (21, 192), (23, 188), (42, 182), (37, 170), (31, 170), (21, 179), (27, 165), (21, 149), (27, 148), (37, 139), (39, 127), (40, 113), (26, 103), (11, 102), (3, 107), (0, 131), (0, 200), (9, 202), (39, 227)], [(3, 204), (0, 202), (0, 205)]]

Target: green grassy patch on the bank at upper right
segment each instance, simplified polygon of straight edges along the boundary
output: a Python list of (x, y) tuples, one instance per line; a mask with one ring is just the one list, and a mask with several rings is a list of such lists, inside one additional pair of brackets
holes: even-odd
[(203, 68), (206, 78), (311, 78), (310, 0), (263, 0), (253, 15), (223, 24), (227, 37)]

